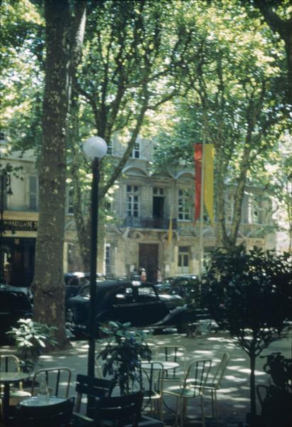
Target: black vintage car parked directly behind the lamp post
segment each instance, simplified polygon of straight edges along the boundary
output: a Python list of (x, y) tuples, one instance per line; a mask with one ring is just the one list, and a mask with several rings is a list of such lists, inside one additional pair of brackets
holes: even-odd
[[(90, 286), (67, 301), (67, 327), (81, 336), (88, 332)], [(158, 295), (152, 283), (104, 280), (97, 283), (97, 325), (109, 320), (131, 322), (134, 327), (182, 330), (188, 309), (178, 295)]]

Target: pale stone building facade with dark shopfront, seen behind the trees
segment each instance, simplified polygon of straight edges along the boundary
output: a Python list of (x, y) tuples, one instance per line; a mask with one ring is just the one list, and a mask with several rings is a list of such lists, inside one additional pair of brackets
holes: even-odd
[[(109, 146), (114, 159), (121, 158), (124, 145), (115, 137)], [(190, 168), (170, 170), (166, 174), (152, 172), (153, 142), (138, 138), (131, 158), (126, 163), (117, 189), (108, 203), (112, 221), (105, 228), (104, 251), (98, 260), (99, 271), (126, 277), (131, 271), (145, 268), (147, 279), (156, 280), (159, 268), (163, 277), (198, 273), (200, 225), (193, 225), (194, 171)], [(2, 152), (1, 166), (11, 164), (17, 173), (10, 174), (12, 195), (2, 188), (1, 258), (11, 267), (11, 284), (19, 280), (31, 283), (38, 224), (38, 176), (33, 152)], [(72, 189), (67, 189), (64, 271), (82, 269), (78, 251)], [(227, 223), (232, 220), (232, 188), (226, 194)], [(273, 226), (270, 201), (261, 191), (248, 187), (242, 206), (239, 241), (247, 248), (275, 248), (275, 233), (266, 233)], [(215, 229), (203, 224), (204, 256), (215, 247)], [(100, 251), (102, 252), (102, 251)]]

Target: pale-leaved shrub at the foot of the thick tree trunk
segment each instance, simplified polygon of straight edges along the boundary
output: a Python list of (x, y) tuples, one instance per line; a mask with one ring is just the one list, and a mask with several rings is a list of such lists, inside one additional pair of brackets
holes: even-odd
[(20, 319), (18, 324), (18, 327), (12, 327), (11, 331), (6, 333), (16, 344), (23, 371), (31, 373), (36, 364), (40, 364), (38, 360), (43, 349), (58, 344), (53, 338), (53, 332), (57, 327), (35, 322), (32, 319)]

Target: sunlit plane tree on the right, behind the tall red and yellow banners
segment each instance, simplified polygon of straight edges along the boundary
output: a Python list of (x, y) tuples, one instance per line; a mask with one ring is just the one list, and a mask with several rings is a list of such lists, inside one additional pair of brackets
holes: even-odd
[[(217, 246), (227, 250), (237, 244), (245, 186), (255, 182), (278, 144), (288, 127), (289, 112), (281, 71), (283, 51), (269, 32), (254, 33), (239, 11), (238, 5), (205, 8), (205, 20), (196, 31), (195, 54), (185, 73), (192, 90), (176, 102), (179, 119), (162, 132), (157, 150), (159, 167), (163, 162), (171, 164), (171, 159), (173, 164), (179, 159), (191, 164), (194, 142), (215, 144)], [(163, 149), (166, 137), (172, 141), (167, 150)], [(225, 218), (227, 186), (234, 190), (230, 226)]]

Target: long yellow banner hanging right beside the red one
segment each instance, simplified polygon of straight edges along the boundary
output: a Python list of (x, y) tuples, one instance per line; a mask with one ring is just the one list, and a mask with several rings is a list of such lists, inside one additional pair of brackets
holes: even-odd
[(205, 144), (204, 162), (204, 201), (210, 221), (214, 223), (213, 200), (214, 200), (214, 144)]

